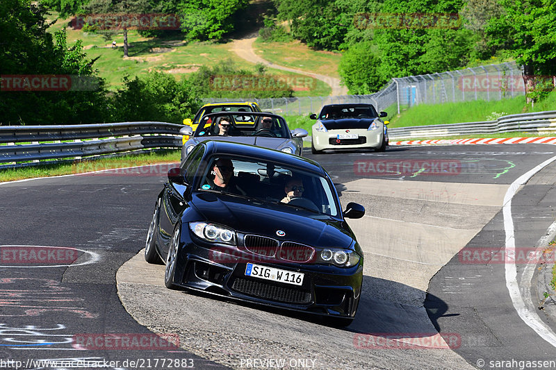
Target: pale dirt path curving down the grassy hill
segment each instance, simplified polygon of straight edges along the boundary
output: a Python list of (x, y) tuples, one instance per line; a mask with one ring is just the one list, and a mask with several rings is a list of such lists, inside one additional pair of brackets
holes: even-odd
[(256, 55), (253, 49), (253, 42), (255, 40), (256, 40), (256, 35), (248, 35), (243, 39), (234, 40), (234, 42), (232, 42), (231, 50), (233, 50), (240, 58), (243, 58), (253, 63), (262, 63), (263, 65), (267, 65), (275, 69), (280, 69), (282, 71), (294, 72), (297, 74), (303, 74), (304, 76), (311, 76), (313, 78), (317, 78), (318, 80), (323, 81), (324, 83), (332, 87), (332, 93), (330, 94), (331, 96), (347, 95), (347, 87), (340, 85), (340, 78), (325, 76), (323, 74), (306, 72), (306, 71), (302, 71), (301, 69), (275, 65), (274, 63), (269, 62), (268, 60), (264, 60), (260, 56)]

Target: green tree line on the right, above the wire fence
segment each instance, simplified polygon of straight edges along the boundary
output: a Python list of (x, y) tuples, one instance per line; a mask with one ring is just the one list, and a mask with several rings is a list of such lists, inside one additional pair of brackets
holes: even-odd
[[(531, 96), (556, 74), (553, 0), (275, 0), (277, 19), (310, 47), (343, 52), (340, 74), (352, 94), (390, 78), (434, 74), (512, 58)], [(539, 85), (535, 91), (535, 85)], [(537, 94), (537, 95), (535, 95)]]

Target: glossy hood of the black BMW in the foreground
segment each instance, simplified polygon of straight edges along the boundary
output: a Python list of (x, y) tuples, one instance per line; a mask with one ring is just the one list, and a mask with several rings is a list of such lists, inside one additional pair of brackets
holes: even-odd
[[(347, 228), (346, 233), (342, 228), (342, 224), (346, 224), (342, 221), (313, 212), (296, 211), (287, 205), (262, 205), (262, 202), (252, 199), (210, 192), (193, 194), (192, 203), (199, 215), (204, 217), (203, 221), (213, 221), (240, 233), (265, 235), (316, 247), (347, 249), (353, 242), (352, 235), (348, 235), (350, 229)], [(284, 231), (286, 235), (278, 237), (277, 230)]]

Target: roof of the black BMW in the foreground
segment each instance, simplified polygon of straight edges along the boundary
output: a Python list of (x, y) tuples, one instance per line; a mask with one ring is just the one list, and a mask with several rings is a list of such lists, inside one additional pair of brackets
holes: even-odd
[(260, 160), (284, 163), (286, 165), (305, 169), (306, 171), (319, 173), (324, 171), (318, 162), (310, 160), (309, 158), (303, 158), (298, 155), (283, 153), (281, 151), (275, 151), (261, 146), (224, 142), (220, 140), (206, 140), (202, 142), (202, 144), (206, 145), (207, 152), (212, 154), (243, 155)]

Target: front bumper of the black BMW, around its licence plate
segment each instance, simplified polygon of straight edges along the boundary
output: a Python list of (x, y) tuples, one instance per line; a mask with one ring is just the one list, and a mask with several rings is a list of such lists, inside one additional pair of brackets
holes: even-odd
[[(334, 317), (351, 318), (357, 312), (363, 280), (362, 259), (341, 268), (268, 260), (242, 249), (202, 242), (181, 233), (174, 285), (262, 305)], [(217, 251), (217, 252), (215, 252)], [(302, 285), (291, 285), (245, 275), (248, 262), (304, 274)]]

